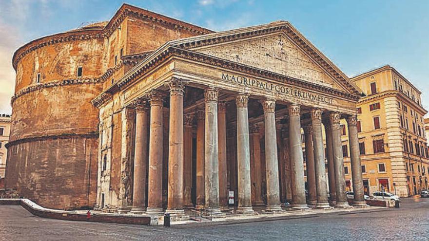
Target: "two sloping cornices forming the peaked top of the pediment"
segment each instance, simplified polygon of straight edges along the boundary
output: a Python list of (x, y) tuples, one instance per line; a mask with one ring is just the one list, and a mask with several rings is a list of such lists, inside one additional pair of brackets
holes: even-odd
[[(273, 26), (270, 27), (271, 25)], [(247, 30), (247, 28), (244, 30)], [(320, 51), (318, 51), (309, 40), (307, 40), (295, 28), (293, 28), (293, 26), (289, 22), (281, 22), (281, 24), (263, 25), (261, 28), (255, 28), (254, 30), (244, 32), (233, 32), (232, 34), (227, 34), (227, 31), (225, 32), (226, 35), (221, 36), (217, 36), (216, 33), (207, 35), (206, 37), (191, 37), (188, 40), (177, 40), (177, 42), (172, 42), (172, 44), (179, 48), (193, 49), (207, 45), (230, 42), (249, 37), (263, 36), (277, 32), (285, 33), (289, 38), (293, 40), (295, 44), (297, 44), (324, 70), (326, 70), (335, 80), (337, 80), (344, 87), (346, 87), (346, 89), (356, 95), (363, 94), (363, 92), (348, 79), (346, 74), (342, 73), (326, 56), (324, 56)]]

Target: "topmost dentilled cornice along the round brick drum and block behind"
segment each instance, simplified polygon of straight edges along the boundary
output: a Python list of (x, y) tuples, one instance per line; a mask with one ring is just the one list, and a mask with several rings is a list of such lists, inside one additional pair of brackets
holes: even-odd
[(120, 27), (120, 24), (126, 17), (134, 17), (137, 19), (149, 20), (157, 23), (161, 23), (172, 27), (174, 29), (184, 29), (194, 34), (203, 35), (208, 33), (213, 33), (213, 31), (198, 27), (196, 25), (183, 22), (177, 19), (168, 18), (154, 12), (147, 11), (142, 8), (138, 8), (129, 4), (123, 4), (116, 12), (116, 14), (110, 19), (107, 25), (100, 29), (99, 27), (94, 27), (92, 29), (76, 29), (64, 33), (54, 34), (46, 37), (40, 37), (35, 39), (23, 46), (21, 46), (12, 57), (12, 65), (14, 69), (17, 69), (17, 64), (20, 59), (27, 54), (31, 53), (34, 50), (37, 50), (41, 47), (56, 44), (60, 42), (69, 42), (74, 40), (86, 40), (92, 38), (103, 38), (109, 37), (117, 28)]

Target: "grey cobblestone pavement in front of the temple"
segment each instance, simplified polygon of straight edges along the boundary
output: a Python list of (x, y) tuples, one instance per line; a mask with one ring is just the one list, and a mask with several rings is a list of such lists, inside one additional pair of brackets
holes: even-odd
[(18, 205), (0, 205), (0, 241), (429, 240), (429, 198), (408, 198), (401, 205), (370, 213), (171, 228), (45, 219)]

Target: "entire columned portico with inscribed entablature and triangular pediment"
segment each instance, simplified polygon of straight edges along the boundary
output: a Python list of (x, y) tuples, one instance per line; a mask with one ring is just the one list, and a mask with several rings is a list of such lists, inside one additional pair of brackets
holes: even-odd
[[(273, 41), (291, 49), (260, 50)], [(273, 55), (280, 62), (263, 60)], [(347, 207), (339, 120), (352, 123), (359, 94), (289, 23), (276, 22), (172, 42), (138, 63), (102, 101), (118, 98), (124, 108), (137, 108), (136, 138), (130, 138), (137, 148), (133, 210), (186, 218), (184, 209), (195, 208), (223, 217), (228, 191), (234, 192), (230, 209), (242, 214), (260, 210), (255, 206), (283, 211), (283, 197), (294, 209), (328, 208), (332, 201)], [(142, 109), (142, 100), (150, 106)], [(357, 132), (349, 128), (357, 168)], [(326, 159), (333, 168), (325, 168)], [(328, 198), (333, 190), (335, 200)], [(363, 188), (355, 188), (355, 199), (362, 204)]]

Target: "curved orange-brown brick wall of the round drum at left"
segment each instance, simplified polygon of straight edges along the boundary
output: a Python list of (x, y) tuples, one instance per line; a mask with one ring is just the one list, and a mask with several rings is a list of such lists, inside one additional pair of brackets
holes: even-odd
[(98, 109), (91, 100), (102, 90), (104, 40), (73, 37), (92, 32), (40, 38), (14, 56), (5, 185), (45, 207), (73, 209), (96, 202)]

